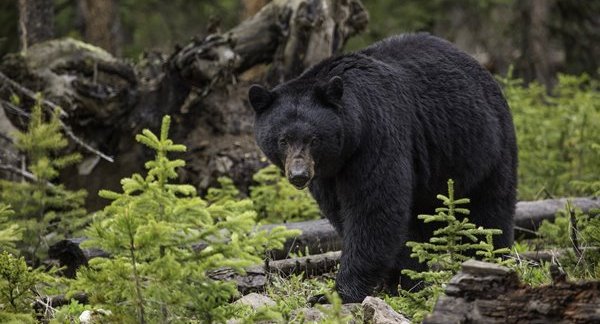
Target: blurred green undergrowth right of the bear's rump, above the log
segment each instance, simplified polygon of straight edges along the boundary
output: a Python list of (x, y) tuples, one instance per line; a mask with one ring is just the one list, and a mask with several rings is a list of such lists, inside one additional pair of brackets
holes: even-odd
[(600, 82), (559, 75), (548, 94), (537, 82), (499, 78), (519, 146), (519, 198), (600, 191)]

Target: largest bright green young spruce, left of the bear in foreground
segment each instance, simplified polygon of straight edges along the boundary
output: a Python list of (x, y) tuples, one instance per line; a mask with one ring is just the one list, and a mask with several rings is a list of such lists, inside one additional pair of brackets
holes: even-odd
[(170, 183), (185, 163), (167, 154), (185, 147), (168, 139), (169, 124), (165, 117), (159, 137), (149, 130), (136, 137), (156, 151), (145, 177), (123, 179), (122, 193), (100, 192), (112, 203), (86, 230), (84, 244), (112, 257), (93, 259), (74, 288), (87, 291), (94, 306), (112, 310), (116, 321), (222, 322), (232, 315), (228, 303), (238, 294), (236, 284), (208, 273), (222, 267), (243, 273), (262, 262), (265, 249), (282, 248), (298, 233), (255, 231), (250, 200), (213, 193), (209, 204), (193, 186)]

